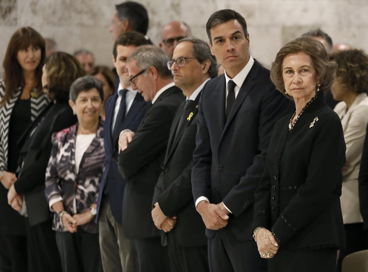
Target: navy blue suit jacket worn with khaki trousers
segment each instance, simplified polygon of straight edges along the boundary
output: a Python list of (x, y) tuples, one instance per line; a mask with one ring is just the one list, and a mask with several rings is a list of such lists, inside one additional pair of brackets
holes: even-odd
[[(121, 225), (121, 215), (123, 212), (123, 195), (125, 184), (127, 183), (127, 181), (123, 179), (118, 170), (118, 138), (113, 139), (111, 131), (112, 119), (117, 97), (118, 95), (116, 91), (114, 95), (107, 99), (105, 106), (106, 120), (103, 127), (103, 138), (105, 143), (106, 168), (100, 182), (99, 196), (97, 200), (97, 215), (95, 220), (96, 222), (98, 220), (101, 201), (103, 197), (106, 197), (104, 190), (107, 186), (107, 195), (109, 197), (111, 211), (116, 222)], [(115, 126), (117, 126), (120, 131), (129, 129), (135, 132), (149, 107), (151, 107), (151, 103), (145, 102), (142, 95), (137, 93), (127, 115), (121, 122), (117, 121)]]

